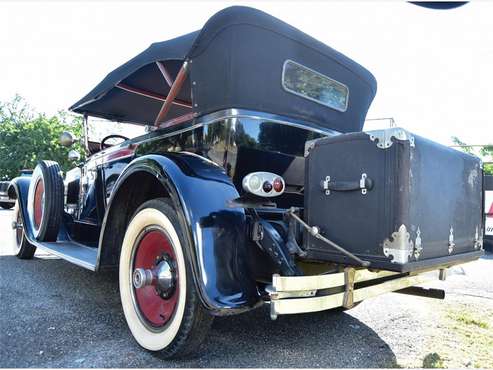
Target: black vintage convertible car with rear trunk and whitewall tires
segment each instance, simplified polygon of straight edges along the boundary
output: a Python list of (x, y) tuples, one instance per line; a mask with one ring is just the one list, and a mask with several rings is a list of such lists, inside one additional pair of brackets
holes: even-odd
[(214, 315), (266, 303), (275, 319), (443, 298), (416, 285), (483, 253), (482, 165), (400, 128), (363, 132), (375, 94), (334, 49), (224, 9), (71, 107), (149, 132), (104, 139), (65, 176), (41, 161), (14, 179), (16, 253), (117, 267), (130, 331), (164, 357), (193, 351)]

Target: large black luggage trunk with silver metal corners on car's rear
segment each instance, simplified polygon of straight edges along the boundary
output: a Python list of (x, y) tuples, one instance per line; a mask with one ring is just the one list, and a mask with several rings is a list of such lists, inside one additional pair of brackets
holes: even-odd
[[(400, 128), (324, 138), (308, 148), (304, 218), (371, 263), (414, 271), (482, 254), (479, 158)], [(309, 233), (307, 258), (356, 265)]]

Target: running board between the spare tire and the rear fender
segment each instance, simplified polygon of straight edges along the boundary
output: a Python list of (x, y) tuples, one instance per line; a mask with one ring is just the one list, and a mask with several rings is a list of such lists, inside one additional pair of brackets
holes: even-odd
[(98, 249), (87, 247), (73, 241), (38, 242), (33, 243), (39, 249), (54, 254), (66, 261), (96, 271)]

